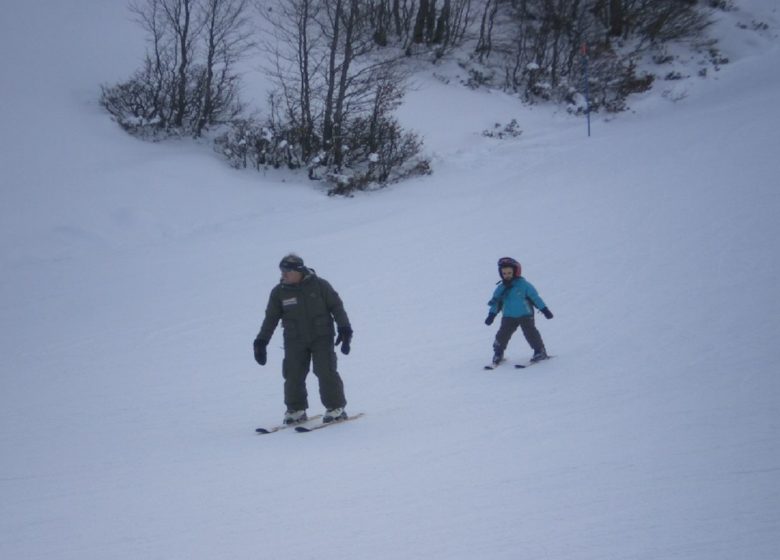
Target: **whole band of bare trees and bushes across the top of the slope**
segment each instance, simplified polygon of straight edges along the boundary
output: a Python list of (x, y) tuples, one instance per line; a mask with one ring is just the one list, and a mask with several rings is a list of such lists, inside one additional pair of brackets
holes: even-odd
[[(471, 87), (573, 111), (621, 111), (655, 79), (637, 70), (639, 54), (655, 49), (661, 60), (664, 43), (702, 34), (707, 9), (731, 9), (729, 0), (708, 3), (136, 0), (131, 11), (149, 39), (144, 65), (103, 87), (101, 102), (132, 134), (210, 131), (235, 167), (306, 170), (330, 193), (349, 194), (430, 172), (422, 140), (393, 116), (410, 60), (435, 63), (458, 49)], [(238, 97), (237, 62), (256, 45), (275, 84), (262, 119), (243, 116)]]

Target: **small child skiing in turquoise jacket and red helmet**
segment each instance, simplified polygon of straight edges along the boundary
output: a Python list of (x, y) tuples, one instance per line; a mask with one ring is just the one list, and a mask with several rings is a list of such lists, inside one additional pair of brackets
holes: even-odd
[(486, 325), (492, 325), (496, 315), (502, 313), (501, 326), (493, 342), (494, 366), (503, 361), (504, 350), (517, 327), (522, 329), (523, 336), (534, 351), (531, 362), (546, 360), (549, 357), (544, 348), (542, 335), (534, 324), (534, 308), (539, 309), (547, 319), (552, 319), (553, 314), (536, 288), (521, 276), (521, 272), (520, 263), (515, 259), (510, 257), (498, 259), (498, 274), (501, 281), (488, 302), (490, 311), (485, 319)]

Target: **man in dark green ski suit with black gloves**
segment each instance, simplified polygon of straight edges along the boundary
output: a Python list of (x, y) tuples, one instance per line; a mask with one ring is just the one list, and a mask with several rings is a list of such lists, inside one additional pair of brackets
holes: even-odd
[(319, 380), (320, 400), (325, 406), (322, 421), (330, 423), (345, 420), (344, 383), (336, 369), (333, 323), (338, 326), (336, 346), (349, 354), (352, 327), (344, 304), (336, 290), (314, 270), (306, 268), (303, 259), (295, 254), (285, 256), (279, 263), (282, 278), (268, 297), (265, 319), (254, 341), (255, 360), (261, 366), (267, 361), (268, 342), (279, 321), (284, 329), (284, 414), (285, 424), (298, 424), (308, 419), (309, 408), (306, 376), (309, 365)]

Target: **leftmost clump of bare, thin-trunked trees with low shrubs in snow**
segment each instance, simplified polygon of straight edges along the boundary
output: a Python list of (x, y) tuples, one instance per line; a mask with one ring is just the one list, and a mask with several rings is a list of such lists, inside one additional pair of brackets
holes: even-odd
[(148, 34), (144, 67), (103, 88), (101, 101), (126, 129), (200, 135), (240, 109), (236, 62), (251, 45), (249, 0), (134, 0)]

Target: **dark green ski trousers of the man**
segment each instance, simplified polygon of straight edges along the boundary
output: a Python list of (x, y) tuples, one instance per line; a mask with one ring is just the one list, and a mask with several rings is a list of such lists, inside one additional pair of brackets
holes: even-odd
[(336, 369), (336, 362), (333, 340), (329, 337), (318, 338), (311, 344), (285, 341), (282, 375), (287, 410), (309, 408), (306, 376), (310, 364), (319, 380), (320, 400), (325, 408), (330, 410), (346, 406), (344, 382)]

